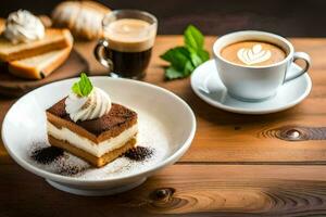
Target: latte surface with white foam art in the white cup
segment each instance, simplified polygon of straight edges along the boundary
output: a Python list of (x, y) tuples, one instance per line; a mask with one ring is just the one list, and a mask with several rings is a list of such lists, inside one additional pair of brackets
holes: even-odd
[(283, 61), (286, 52), (276, 44), (264, 41), (240, 41), (226, 46), (222, 58), (244, 66), (265, 66)]

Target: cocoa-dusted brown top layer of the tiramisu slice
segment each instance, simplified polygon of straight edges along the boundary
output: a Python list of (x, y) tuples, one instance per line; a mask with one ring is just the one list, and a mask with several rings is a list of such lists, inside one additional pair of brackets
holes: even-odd
[[(103, 132), (110, 132), (110, 135), (114, 137), (137, 123), (136, 112), (116, 103), (112, 103), (110, 112), (102, 117), (77, 123), (74, 123), (65, 111), (65, 98), (47, 110), (47, 114), (49, 113), (54, 115), (57, 119), (60, 117), (78, 125), (96, 137), (100, 137)], [(54, 117), (53, 120), (50, 119), (50, 122), (55, 125)]]

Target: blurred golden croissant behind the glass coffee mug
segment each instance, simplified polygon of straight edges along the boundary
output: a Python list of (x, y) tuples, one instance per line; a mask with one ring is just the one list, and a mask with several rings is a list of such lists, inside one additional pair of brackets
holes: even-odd
[(95, 1), (64, 1), (52, 12), (53, 26), (68, 28), (73, 36), (87, 40), (103, 36), (102, 20), (111, 10)]

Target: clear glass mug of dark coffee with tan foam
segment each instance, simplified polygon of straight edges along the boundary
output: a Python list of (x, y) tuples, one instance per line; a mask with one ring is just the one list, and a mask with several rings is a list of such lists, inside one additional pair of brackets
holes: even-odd
[(96, 59), (112, 77), (141, 79), (146, 76), (158, 20), (148, 12), (117, 10), (102, 21), (103, 38), (95, 48)]

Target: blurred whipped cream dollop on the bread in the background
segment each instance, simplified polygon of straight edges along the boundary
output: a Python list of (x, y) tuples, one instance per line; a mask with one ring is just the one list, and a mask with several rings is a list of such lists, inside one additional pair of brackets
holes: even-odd
[(39, 40), (45, 31), (41, 21), (26, 10), (12, 12), (5, 21), (4, 37), (12, 43)]

